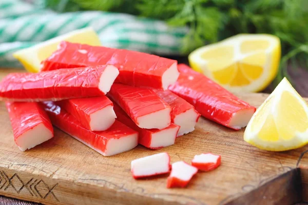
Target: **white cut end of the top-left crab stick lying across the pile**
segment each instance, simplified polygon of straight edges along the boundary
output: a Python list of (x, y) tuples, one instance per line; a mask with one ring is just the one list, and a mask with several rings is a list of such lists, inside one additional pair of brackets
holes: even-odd
[(99, 89), (104, 93), (109, 92), (113, 81), (118, 77), (118, 75), (119, 70), (116, 67), (107, 65), (100, 77)]

